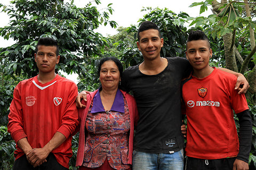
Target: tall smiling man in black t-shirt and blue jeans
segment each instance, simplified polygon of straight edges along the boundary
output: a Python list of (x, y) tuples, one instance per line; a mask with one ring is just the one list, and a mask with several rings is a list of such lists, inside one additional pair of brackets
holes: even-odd
[(128, 67), (122, 77), (122, 87), (133, 92), (140, 117), (133, 169), (183, 169), (180, 82), (191, 66), (185, 58), (160, 56), (163, 38), (152, 22), (141, 23), (137, 45), (144, 61)]

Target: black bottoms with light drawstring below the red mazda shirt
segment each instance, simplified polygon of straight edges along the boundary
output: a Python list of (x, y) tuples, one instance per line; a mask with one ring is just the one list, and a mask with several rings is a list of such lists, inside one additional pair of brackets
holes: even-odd
[(232, 170), (236, 157), (223, 159), (198, 159), (187, 157), (185, 170)]

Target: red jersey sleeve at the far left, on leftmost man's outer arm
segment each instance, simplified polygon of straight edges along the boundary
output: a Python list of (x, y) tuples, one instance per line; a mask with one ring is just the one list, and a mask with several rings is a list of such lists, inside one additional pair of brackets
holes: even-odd
[(21, 105), (21, 83), (19, 83), (13, 91), (13, 99), (10, 105), (10, 113), (8, 115), (9, 123), (7, 124), (8, 132), (12, 139), (17, 143), (20, 139), (26, 138), (27, 134), (23, 129), (22, 105)]

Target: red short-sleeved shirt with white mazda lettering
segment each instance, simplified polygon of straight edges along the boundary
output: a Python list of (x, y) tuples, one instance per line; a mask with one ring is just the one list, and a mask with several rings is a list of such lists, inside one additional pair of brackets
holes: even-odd
[(234, 114), (249, 109), (235, 90), (236, 77), (218, 69), (204, 79), (191, 77), (182, 86), (188, 129), (186, 155), (220, 159), (238, 154)]

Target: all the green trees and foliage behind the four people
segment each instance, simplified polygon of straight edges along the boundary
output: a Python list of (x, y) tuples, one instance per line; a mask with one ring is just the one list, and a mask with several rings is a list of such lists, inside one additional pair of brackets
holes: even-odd
[[(92, 3), (99, 4), (100, 0)], [(103, 37), (95, 32), (99, 25), (116, 22), (109, 20), (113, 14), (111, 4), (99, 11), (97, 5), (87, 4), (76, 7), (73, 2), (62, 0), (14, 0), (11, 6), (0, 3), (2, 12), (10, 18), (10, 24), (0, 28), (0, 36), (13, 38), (17, 43), (10, 47), (0, 47), (0, 169), (11, 169), (14, 162), (15, 143), (7, 133), (7, 115), (12, 100), (13, 89), (23, 79), (37, 74), (34, 50), (41, 37), (52, 37), (60, 44), (61, 61), (58, 73), (77, 73), (79, 90), (95, 90), (99, 86), (96, 74), (100, 58), (115, 56), (124, 67), (142, 62), (143, 58), (136, 45), (136, 32), (139, 25), (118, 28), (117, 35)], [(193, 3), (191, 7), (201, 6), (201, 13), (212, 10), (208, 17), (191, 18), (186, 13), (173, 13), (167, 8), (146, 7), (147, 14), (139, 21), (153, 21), (161, 29), (164, 38), (163, 57), (185, 57), (185, 45), (191, 29), (205, 31), (211, 40), (214, 55), (212, 66), (227, 67), (241, 72), (250, 83), (246, 98), (253, 119), (253, 141), (250, 154), (250, 169), (256, 167), (256, 66), (255, 66), (255, 1), (215, 1), (206, 0)], [(190, 24), (189, 27), (186, 26)], [(235, 117), (236, 123), (237, 118)], [(237, 124), (239, 131), (239, 124)], [(78, 134), (73, 137), (74, 156), (70, 169), (76, 169)]]

